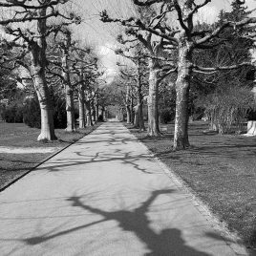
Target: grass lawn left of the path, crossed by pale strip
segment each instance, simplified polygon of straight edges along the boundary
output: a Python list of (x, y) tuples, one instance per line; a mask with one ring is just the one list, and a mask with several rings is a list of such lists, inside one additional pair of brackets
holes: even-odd
[[(40, 134), (40, 130), (36, 128), (30, 128), (23, 123), (0, 122), (0, 146), (15, 148), (52, 147), (53, 151), (56, 152), (75, 140), (89, 134), (95, 130), (96, 127), (98, 127), (98, 125), (79, 129), (75, 133), (67, 133), (63, 129), (56, 129), (55, 135), (58, 139), (53, 142), (44, 143), (36, 140)], [(52, 154), (53, 152), (40, 154), (0, 153), (0, 189), (22, 176), (34, 165), (50, 157)]]

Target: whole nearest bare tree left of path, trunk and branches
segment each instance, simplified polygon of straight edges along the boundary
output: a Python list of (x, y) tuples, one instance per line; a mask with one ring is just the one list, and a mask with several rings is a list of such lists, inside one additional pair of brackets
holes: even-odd
[[(79, 23), (79, 18), (74, 14), (65, 16), (57, 11), (59, 4), (65, 4), (67, 0), (5, 0), (0, 3), (0, 7), (9, 11), (13, 16), (0, 20), (0, 25), (5, 26), (5, 31), (11, 35), (14, 40), (9, 42), (10, 47), (19, 47), (22, 54), (29, 53), (30, 63), (22, 61), (17, 62), (19, 65), (26, 67), (32, 76), (34, 89), (39, 99), (41, 109), (41, 133), (38, 140), (56, 139), (53, 127), (53, 102), (50, 96), (49, 87), (46, 81), (47, 66), (47, 36), (50, 35), (59, 25), (48, 25), (49, 18), (61, 16), (69, 20)], [(14, 11), (13, 11), (14, 10)], [(23, 22), (32, 22), (32, 29), (22, 29), (20, 25)], [(26, 25), (26, 24), (25, 24)]]

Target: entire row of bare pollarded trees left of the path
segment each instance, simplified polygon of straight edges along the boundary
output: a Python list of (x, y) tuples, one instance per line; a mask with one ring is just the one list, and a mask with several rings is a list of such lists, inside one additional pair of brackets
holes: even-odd
[[(56, 139), (53, 125), (54, 95), (65, 97), (68, 132), (75, 131), (75, 98), (79, 102), (79, 127), (98, 118), (99, 77), (96, 53), (74, 40), (70, 26), (80, 17), (64, 11), (67, 0), (5, 0), (0, 19), (6, 36), (1, 39), (2, 91), (11, 91), (16, 81), (32, 80), (39, 101), (41, 133), (38, 140)], [(28, 79), (29, 75), (29, 79)], [(10, 77), (14, 77), (10, 79)], [(24, 76), (27, 76), (24, 79)], [(24, 82), (26, 80), (26, 82)], [(63, 93), (64, 92), (64, 93)], [(7, 95), (1, 94), (4, 98)], [(86, 118), (87, 117), (87, 118)]]

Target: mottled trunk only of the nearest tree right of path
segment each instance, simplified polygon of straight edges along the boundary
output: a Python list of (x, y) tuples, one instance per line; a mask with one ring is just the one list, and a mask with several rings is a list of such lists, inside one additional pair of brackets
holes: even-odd
[(178, 77), (176, 81), (176, 116), (174, 150), (185, 149), (188, 140), (188, 98), (192, 73), (192, 48), (185, 39), (179, 44)]

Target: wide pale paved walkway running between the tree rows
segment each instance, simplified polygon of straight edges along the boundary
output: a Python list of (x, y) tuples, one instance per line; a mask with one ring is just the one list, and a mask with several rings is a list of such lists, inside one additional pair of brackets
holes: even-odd
[(0, 255), (236, 255), (120, 123), (0, 193)]

